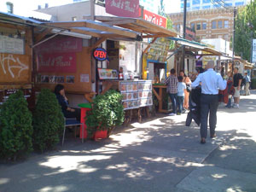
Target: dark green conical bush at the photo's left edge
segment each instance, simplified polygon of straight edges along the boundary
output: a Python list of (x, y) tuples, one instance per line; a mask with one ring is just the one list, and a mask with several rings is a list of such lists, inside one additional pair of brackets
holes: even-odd
[(0, 124), (0, 153), (4, 159), (23, 158), (32, 151), (32, 113), (21, 90), (3, 103)]

